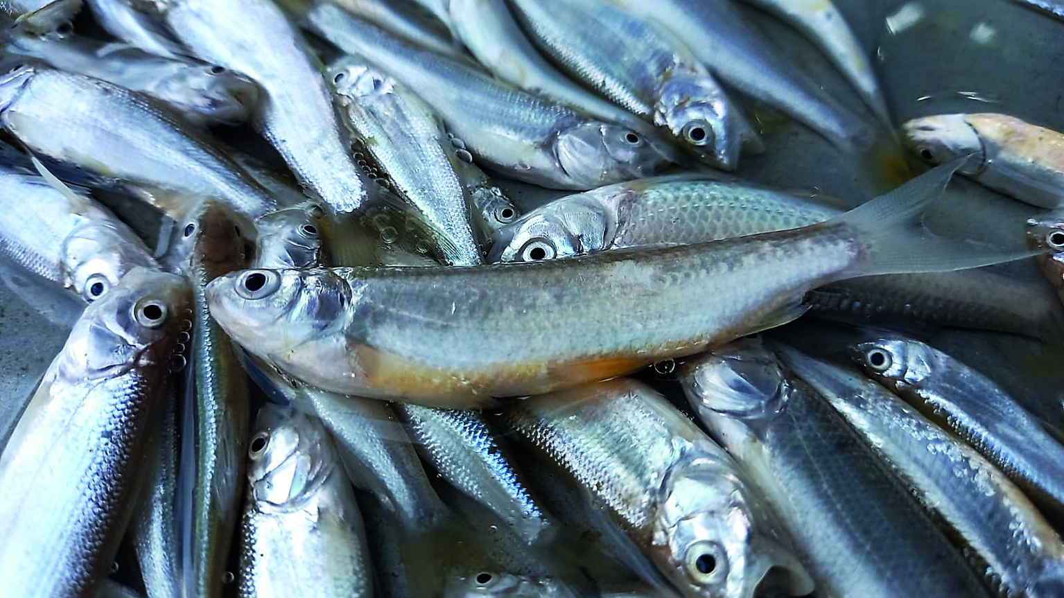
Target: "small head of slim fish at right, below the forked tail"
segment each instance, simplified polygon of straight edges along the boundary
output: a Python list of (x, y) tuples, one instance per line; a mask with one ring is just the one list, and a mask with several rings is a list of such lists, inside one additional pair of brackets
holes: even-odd
[(869, 376), (901, 389), (919, 384), (934, 369), (934, 349), (908, 338), (878, 338), (858, 343), (850, 358)]

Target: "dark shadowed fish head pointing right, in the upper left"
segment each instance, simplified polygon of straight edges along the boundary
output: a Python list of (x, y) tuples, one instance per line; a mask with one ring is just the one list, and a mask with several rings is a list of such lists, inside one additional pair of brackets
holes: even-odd
[(151, 93), (171, 104), (187, 106), (194, 119), (238, 124), (259, 105), (259, 84), (221, 65), (195, 65), (160, 78)]

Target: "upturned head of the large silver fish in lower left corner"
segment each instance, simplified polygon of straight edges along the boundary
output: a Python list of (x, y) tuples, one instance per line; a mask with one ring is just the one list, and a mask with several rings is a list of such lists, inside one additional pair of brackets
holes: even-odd
[(192, 328), (192, 286), (181, 276), (135, 267), (89, 304), (63, 348), (61, 371), (89, 378), (169, 367)]

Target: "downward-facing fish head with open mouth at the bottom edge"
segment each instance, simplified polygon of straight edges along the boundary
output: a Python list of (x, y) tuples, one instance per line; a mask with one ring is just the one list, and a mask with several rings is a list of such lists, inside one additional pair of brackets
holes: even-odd
[[(719, 451), (721, 456), (727, 453)], [(731, 459), (688, 455), (658, 496), (651, 557), (685, 596), (804, 596), (813, 581), (779, 541), (770, 512), (758, 512)]]

